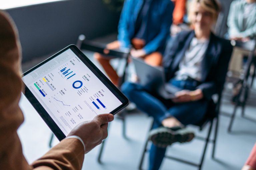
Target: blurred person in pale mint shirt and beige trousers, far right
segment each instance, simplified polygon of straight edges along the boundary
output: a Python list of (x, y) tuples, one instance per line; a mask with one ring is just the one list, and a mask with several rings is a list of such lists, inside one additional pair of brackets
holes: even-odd
[[(256, 0), (234, 0), (228, 14), (228, 32), (226, 38), (246, 42), (256, 38)], [(249, 52), (241, 48), (234, 48), (229, 70), (233, 76), (239, 77), (243, 66), (247, 62)], [(255, 60), (256, 61), (256, 60)], [(256, 62), (254, 62), (256, 63)], [(233, 90), (233, 97), (237, 90)]]

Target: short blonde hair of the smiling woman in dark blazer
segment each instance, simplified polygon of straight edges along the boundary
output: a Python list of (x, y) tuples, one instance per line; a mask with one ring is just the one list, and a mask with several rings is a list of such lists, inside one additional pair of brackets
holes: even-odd
[(212, 13), (213, 19), (217, 21), (221, 6), (217, 0), (192, 0), (188, 6), (188, 19), (191, 22), (191, 18), (194, 12), (196, 4), (200, 4), (206, 11)]

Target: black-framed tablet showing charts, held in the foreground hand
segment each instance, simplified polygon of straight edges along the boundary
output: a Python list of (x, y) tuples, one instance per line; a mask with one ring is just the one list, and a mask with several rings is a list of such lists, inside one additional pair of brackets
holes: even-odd
[(128, 99), (75, 45), (22, 76), (24, 95), (59, 140), (79, 123), (98, 114), (114, 115), (128, 105)]

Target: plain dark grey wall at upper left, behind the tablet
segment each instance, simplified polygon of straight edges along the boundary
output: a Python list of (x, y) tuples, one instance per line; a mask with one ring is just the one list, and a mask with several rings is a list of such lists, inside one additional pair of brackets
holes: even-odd
[(92, 39), (114, 32), (119, 19), (102, 0), (60, 1), (7, 12), (19, 31), (23, 62), (76, 43), (80, 34)]

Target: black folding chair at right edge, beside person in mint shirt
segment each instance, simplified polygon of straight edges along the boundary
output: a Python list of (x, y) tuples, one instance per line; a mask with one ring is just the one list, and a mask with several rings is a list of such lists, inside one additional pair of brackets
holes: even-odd
[[(245, 114), (245, 105), (246, 105), (246, 101), (248, 99), (249, 96), (249, 91), (250, 88), (253, 84), (254, 81), (254, 77), (255, 77), (255, 65), (254, 65), (254, 72), (251, 75), (250, 74), (250, 70), (251, 70), (251, 65), (255, 64), (255, 57), (254, 57), (254, 52), (256, 49), (256, 40), (250, 40), (248, 42), (238, 42), (238, 41), (231, 41), (231, 44), (234, 47), (238, 47), (238, 48), (242, 48), (244, 50), (248, 50), (249, 51), (249, 55), (247, 58), (247, 62), (245, 64), (245, 68), (244, 68), (244, 73), (240, 76), (240, 79), (238, 80), (238, 82), (241, 84), (241, 88), (235, 98), (235, 106), (234, 106), (234, 110), (230, 119), (230, 123), (228, 126), (228, 132), (231, 131), (233, 122), (234, 122), (234, 118), (236, 115), (236, 111), (238, 109), (238, 107), (240, 106), (242, 108), (242, 117), (244, 117)], [(250, 82), (251, 79), (251, 82)]]

